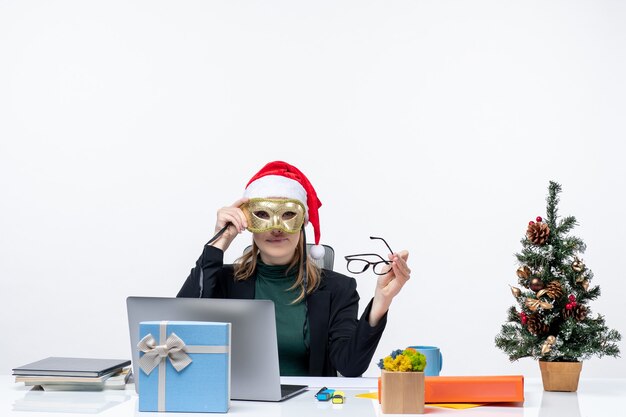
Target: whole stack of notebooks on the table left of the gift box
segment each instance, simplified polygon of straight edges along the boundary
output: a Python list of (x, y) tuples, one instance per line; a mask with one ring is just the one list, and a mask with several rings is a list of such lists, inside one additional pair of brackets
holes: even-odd
[(41, 386), (46, 391), (101, 391), (125, 389), (130, 360), (49, 357), (13, 368), (15, 382)]

